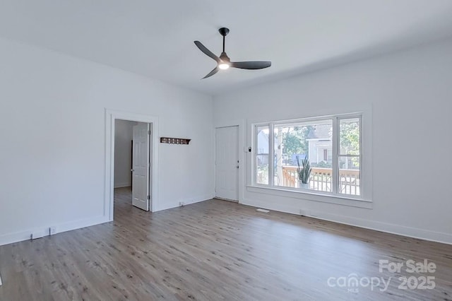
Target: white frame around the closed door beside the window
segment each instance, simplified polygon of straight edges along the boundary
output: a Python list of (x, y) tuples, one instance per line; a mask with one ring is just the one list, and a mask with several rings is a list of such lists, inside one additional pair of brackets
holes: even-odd
[(215, 189), (217, 187), (217, 166), (215, 165), (215, 160), (217, 160), (217, 129), (222, 127), (230, 127), (230, 126), (238, 126), (239, 136), (238, 136), (238, 146), (239, 146), (239, 203), (243, 203), (244, 201), (244, 179), (245, 179), (245, 169), (246, 169), (246, 153), (244, 147), (244, 138), (246, 138), (245, 134), (245, 120), (244, 119), (235, 119), (223, 122), (215, 122), (213, 127), (213, 195), (216, 195)]

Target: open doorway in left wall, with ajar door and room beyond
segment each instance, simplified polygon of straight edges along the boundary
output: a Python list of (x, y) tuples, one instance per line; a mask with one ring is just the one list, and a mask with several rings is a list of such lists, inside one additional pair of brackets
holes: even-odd
[(114, 121), (114, 199), (144, 211), (150, 208), (150, 128), (145, 122)]

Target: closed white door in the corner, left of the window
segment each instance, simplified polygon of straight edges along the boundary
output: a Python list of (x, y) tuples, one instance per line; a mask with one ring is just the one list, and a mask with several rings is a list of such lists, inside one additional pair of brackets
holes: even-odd
[(239, 200), (239, 126), (215, 132), (215, 196)]

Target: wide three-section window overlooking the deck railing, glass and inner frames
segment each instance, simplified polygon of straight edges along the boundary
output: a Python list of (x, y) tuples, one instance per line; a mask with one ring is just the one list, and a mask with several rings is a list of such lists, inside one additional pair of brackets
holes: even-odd
[(253, 184), (362, 197), (362, 114), (253, 124)]

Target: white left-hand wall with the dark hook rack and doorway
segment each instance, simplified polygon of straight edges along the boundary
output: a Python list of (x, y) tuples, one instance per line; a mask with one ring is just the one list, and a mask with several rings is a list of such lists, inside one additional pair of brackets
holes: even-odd
[(192, 139), (159, 145), (157, 210), (213, 196), (210, 96), (0, 39), (0, 244), (106, 220), (105, 108)]

